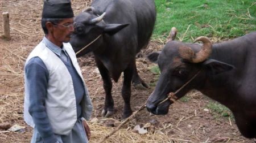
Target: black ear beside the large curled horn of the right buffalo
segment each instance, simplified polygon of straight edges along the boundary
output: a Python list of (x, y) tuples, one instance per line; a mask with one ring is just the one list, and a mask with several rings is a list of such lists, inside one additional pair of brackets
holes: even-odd
[(222, 72), (234, 69), (234, 66), (231, 64), (223, 63), (214, 59), (205, 60), (205, 62), (203, 62), (203, 66), (207, 68), (210, 75), (218, 75)]

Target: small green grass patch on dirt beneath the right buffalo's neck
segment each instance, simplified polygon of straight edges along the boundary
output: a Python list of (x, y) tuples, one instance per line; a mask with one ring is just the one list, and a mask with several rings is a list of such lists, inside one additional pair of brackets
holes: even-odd
[(207, 105), (207, 108), (210, 109), (216, 118), (220, 117), (230, 117), (234, 118), (232, 112), (225, 107), (224, 105), (221, 105), (220, 103), (216, 101), (210, 101)]

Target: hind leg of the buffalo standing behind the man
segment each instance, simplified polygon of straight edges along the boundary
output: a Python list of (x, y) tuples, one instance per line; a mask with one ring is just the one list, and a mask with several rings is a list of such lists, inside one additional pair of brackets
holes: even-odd
[(132, 80), (133, 86), (135, 88), (141, 88), (145, 89), (148, 88), (148, 85), (139, 77), (136, 62), (133, 63), (133, 80)]

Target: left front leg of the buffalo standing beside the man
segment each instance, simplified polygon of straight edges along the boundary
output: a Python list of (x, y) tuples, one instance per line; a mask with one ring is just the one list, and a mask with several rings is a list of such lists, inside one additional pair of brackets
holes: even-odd
[(105, 105), (104, 109), (101, 112), (101, 116), (108, 118), (114, 114), (114, 100), (112, 98), (111, 90), (112, 90), (112, 81), (109, 77), (109, 71), (105, 68), (104, 64), (102, 64), (99, 60), (96, 59), (98, 70), (101, 73), (101, 77), (103, 80), (103, 87), (105, 90)]

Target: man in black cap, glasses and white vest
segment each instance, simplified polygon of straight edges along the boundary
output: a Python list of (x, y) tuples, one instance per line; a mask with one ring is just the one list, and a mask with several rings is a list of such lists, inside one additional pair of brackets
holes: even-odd
[(68, 43), (73, 16), (70, 1), (44, 1), (46, 36), (25, 63), (24, 120), (34, 127), (31, 143), (85, 143), (90, 138), (86, 120), (92, 102)]

